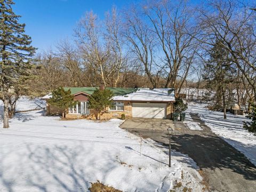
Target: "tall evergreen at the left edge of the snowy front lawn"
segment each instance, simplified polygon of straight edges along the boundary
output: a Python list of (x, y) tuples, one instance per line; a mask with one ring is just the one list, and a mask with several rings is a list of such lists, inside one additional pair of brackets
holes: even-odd
[(35, 48), (25, 34), (25, 24), (12, 11), (12, 0), (0, 0), (0, 92), (4, 102), (4, 128), (9, 127), (9, 101), (18, 82), (30, 75)]

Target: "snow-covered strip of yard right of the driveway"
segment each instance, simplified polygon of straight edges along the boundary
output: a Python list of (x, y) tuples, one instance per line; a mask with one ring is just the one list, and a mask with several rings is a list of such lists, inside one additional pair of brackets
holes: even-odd
[(214, 133), (245, 154), (256, 165), (256, 137), (243, 129), (243, 122), (248, 121), (245, 116), (227, 113), (227, 119), (223, 119), (223, 113), (210, 111), (205, 104), (194, 102), (188, 103), (186, 112), (198, 113)]

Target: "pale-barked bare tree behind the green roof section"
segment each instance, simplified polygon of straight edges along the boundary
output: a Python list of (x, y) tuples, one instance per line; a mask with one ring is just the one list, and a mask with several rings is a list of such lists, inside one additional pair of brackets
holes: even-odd
[(105, 86), (117, 86), (125, 65), (120, 27), (121, 21), (113, 8), (105, 22), (93, 12), (86, 13), (75, 30), (85, 69), (91, 71), (94, 85), (100, 81)]

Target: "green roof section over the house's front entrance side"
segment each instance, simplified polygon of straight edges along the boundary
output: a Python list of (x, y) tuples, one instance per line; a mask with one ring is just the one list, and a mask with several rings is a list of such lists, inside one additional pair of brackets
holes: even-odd
[[(96, 89), (99, 89), (99, 87), (63, 87), (63, 88), (65, 91), (70, 89), (71, 94), (76, 94), (79, 92), (92, 94)], [(137, 89), (135, 88), (106, 87), (106, 89), (111, 90), (115, 96), (125, 95), (125, 94), (129, 94), (137, 91)]]

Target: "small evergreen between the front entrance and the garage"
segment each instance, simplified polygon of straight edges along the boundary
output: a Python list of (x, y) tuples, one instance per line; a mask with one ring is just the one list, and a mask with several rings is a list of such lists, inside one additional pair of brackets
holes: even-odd
[(96, 119), (100, 119), (102, 112), (112, 105), (112, 97), (113, 93), (108, 89), (97, 89), (89, 96), (89, 107), (95, 111)]

